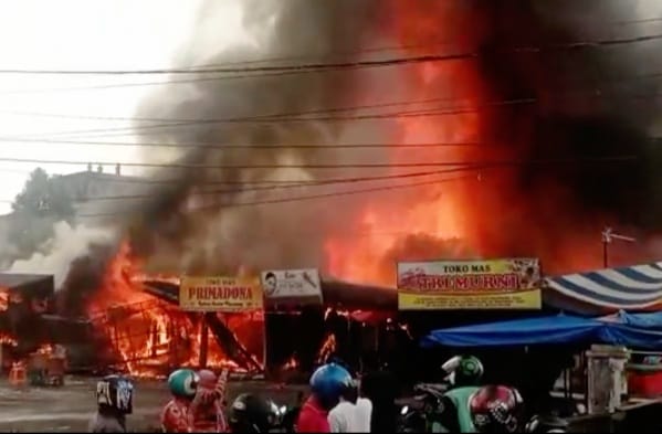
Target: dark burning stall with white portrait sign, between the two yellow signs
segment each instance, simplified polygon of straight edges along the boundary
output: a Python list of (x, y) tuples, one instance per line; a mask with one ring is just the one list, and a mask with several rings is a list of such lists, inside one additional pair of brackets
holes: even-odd
[[(355, 368), (382, 349), (396, 292), (322, 278), (317, 269), (265, 271), (267, 366), (308, 372), (336, 356)], [(296, 336), (296, 339), (291, 339)]]

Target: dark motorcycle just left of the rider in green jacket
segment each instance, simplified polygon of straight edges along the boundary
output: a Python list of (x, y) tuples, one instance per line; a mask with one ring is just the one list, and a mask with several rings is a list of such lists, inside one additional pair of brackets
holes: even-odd
[(441, 405), (441, 399), (448, 384), (419, 383), (414, 385), (416, 395), (409, 405), (400, 407), (398, 432), (400, 433), (441, 433), (443, 426), (434, 421)]

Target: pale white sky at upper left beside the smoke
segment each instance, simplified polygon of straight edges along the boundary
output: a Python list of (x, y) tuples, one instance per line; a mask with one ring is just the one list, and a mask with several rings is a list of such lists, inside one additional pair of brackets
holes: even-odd
[[(216, 1), (227, 11), (218, 15), (213, 42), (216, 46), (232, 44), (242, 38), (240, 0)], [(175, 57), (195, 27), (201, 3), (202, 0), (0, 0), (0, 70), (193, 66), (175, 64)], [(82, 141), (87, 135), (97, 141), (136, 142), (138, 139), (129, 129), (122, 130), (130, 126), (129, 121), (80, 116), (130, 118), (139, 102), (161, 86), (98, 86), (165, 81), (164, 75), (0, 74), (0, 214), (11, 210), (11, 200), (38, 166), (49, 173), (71, 173), (86, 170), (87, 162), (139, 161), (137, 147), (40, 140)], [(98, 131), (109, 128), (120, 130), (112, 137), (108, 131)], [(3, 158), (73, 160), (82, 165), (8, 162)], [(114, 172), (115, 168), (108, 165), (104, 170)], [(139, 174), (139, 169), (125, 168), (123, 172)]]

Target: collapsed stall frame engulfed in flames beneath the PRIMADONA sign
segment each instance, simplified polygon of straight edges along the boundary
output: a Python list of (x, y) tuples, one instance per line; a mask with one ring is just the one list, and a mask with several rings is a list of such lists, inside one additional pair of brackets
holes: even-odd
[(141, 300), (93, 316), (96, 329), (103, 330), (99, 339), (108, 341), (109, 351), (101, 364), (134, 374), (165, 374), (181, 366), (225, 367), (235, 373), (262, 370), (260, 354), (251, 352), (235, 334), (261, 329), (261, 315), (196, 313), (180, 305), (179, 285), (148, 280), (139, 286)]

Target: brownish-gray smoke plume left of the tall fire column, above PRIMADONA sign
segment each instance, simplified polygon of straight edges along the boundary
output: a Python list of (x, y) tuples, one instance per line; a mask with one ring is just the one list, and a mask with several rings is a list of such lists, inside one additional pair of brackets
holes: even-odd
[[(207, 36), (210, 27), (218, 25), (218, 4), (210, 1), (200, 12), (199, 32), (183, 44), (187, 52), (182, 57), (187, 63), (228, 65), (274, 57), (287, 59), (280, 64), (329, 62), (338, 59), (338, 53), (359, 50), (374, 29), (369, 22), (379, 2), (243, 1), (243, 25), (251, 36), (250, 41), (242, 46), (224, 47), (221, 52), (208, 46)], [(202, 49), (197, 51), (198, 47)], [(345, 54), (340, 59), (347, 60), (348, 56)], [(145, 102), (137, 116), (214, 119), (348, 107), (357, 105), (367, 95), (361, 86), (369, 87), (368, 78), (369, 75), (357, 76), (353, 71), (336, 71), (225, 76), (190, 85), (172, 84)], [(351, 113), (338, 113), (348, 114)], [(375, 161), (375, 158), (378, 161), (379, 156), (375, 152), (340, 152), (333, 149), (333, 144), (380, 141), (386, 139), (385, 133), (370, 125), (353, 128), (341, 123), (199, 123), (190, 127), (159, 129), (150, 133), (149, 140), (182, 145), (178, 161), (186, 165), (334, 165), (368, 162)], [(240, 145), (245, 148), (210, 149), (191, 144)], [(251, 145), (328, 147), (264, 149)], [(245, 208), (237, 208), (235, 204), (340, 189), (337, 186), (272, 189), (274, 184), (265, 181), (307, 182), (358, 174), (336, 169), (168, 169), (156, 177), (177, 182), (160, 189), (155, 200), (143, 210), (141, 223), (132, 231), (132, 244), (136, 254), (149, 256), (153, 264), (169, 271), (211, 273), (233, 272), (242, 265), (315, 266), (323, 260), (325, 234), (333, 231), (334, 225), (341, 226), (337, 216), (346, 210), (333, 209), (332, 202), (322, 201)], [(344, 201), (343, 204), (354, 202), (356, 200)]]

